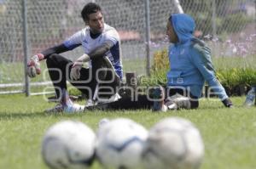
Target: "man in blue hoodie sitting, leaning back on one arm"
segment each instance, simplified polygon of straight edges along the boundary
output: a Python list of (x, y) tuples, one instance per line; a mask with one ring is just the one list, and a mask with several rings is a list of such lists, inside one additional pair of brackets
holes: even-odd
[(166, 27), (166, 34), (173, 45), (168, 52), (171, 69), (167, 73), (167, 96), (170, 101), (163, 110), (197, 108), (205, 82), (226, 107), (232, 107), (215, 75), (210, 48), (193, 36), (195, 20), (188, 14), (172, 14)]

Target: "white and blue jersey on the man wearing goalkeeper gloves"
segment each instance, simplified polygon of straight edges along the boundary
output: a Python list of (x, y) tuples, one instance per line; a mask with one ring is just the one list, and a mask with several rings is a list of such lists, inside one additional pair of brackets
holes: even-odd
[(67, 38), (67, 40), (63, 43), (69, 50), (82, 45), (84, 54), (90, 54), (92, 50), (102, 46), (102, 44), (105, 42), (113, 42), (112, 48), (110, 48), (105, 55), (111, 61), (114, 70), (122, 79), (123, 68), (121, 62), (120, 38), (118, 32), (110, 25), (104, 24), (102, 34), (96, 38), (90, 37), (90, 28), (87, 26), (81, 31), (73, 34), (72, 37)]

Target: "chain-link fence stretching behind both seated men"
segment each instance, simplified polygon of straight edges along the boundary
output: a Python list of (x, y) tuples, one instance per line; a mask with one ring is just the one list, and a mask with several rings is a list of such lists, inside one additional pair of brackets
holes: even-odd
[[(23, 2), (26, 1), (27, 44), (24, 43)], [(147, 8), (147, 1), (149, 8)], [(37, 54), (63, 42), (84, 27), (80, 11), (90, 0), (0, 0), (0, 93), (24, 92), (24, 45), (27, 55)], [(105, 22), (119, 31), (125, 71), (146, 74), (150, 56), (166, 48), (166, 20), (170, 14), (188, 13), (196, 21), (195, 36), (206, 40), (216, 56), (255, 54), (254, 0), (95, 0), (102, 6)], [(179, 8), (178, 4), (181, 5)], [(147, 14), (149, 23), (147, 23)], [(150, 29), (148, 29), (150, 25)], [(150, 30), (150, 41), (147, 31)], [(247, 44), (247, 45), (245, 45)], [(81, 48), (63, 54), (76, 59)], [(149, 62), (150, 63), (150, 62)], [(44, 76), (32, 84), (47, 82)]]

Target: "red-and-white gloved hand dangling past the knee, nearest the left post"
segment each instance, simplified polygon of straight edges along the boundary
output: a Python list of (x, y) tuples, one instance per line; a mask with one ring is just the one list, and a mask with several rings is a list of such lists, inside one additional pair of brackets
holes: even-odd
[(44, 59), (43, 54), (36, 54), (31, 57), (27, 63), (26, 74), (29, 77), (35, 77), (37, 74), (41, 73), (39, 61)]

